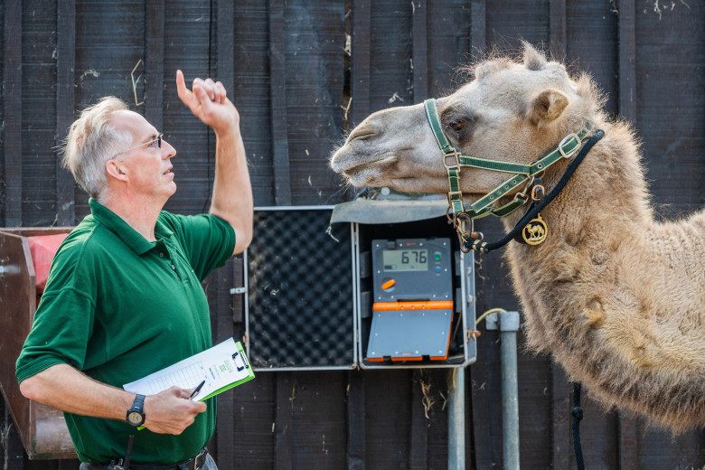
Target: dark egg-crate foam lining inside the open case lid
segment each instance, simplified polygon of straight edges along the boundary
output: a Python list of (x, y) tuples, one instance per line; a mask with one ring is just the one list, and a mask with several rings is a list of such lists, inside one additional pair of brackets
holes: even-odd
[(330, 209), (259, 209), (248, 249), (249, 360), (255, 369), (355, 363), (351, 226)]

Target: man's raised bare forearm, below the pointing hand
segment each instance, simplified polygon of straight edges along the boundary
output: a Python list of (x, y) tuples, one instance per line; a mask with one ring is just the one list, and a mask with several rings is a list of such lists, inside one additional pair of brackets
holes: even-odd
[(236, 233), (234, 253), (241, 253), (252, 240), (252, 186), (240, 128), (216, 133), (215, 180), (211, 214), (230, 223)]

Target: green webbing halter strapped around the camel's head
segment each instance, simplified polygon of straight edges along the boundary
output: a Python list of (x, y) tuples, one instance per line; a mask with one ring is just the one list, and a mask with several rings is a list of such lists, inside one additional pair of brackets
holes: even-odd
[[(555, 164), (563, 158), (570, 158), (575, 155), (582, 145), (582, 140), (587, 136), (592, 127), (588, 123), (578, 134), (573, 133), (565, 136), (563, 140), (560, 141), (558, 147), (551, 150), (548, 154), (543, 155), (540, 160), (532, 164), (517, 164), (461, 155), (460, 152), (456, 150), (456, 147), (450, 144), (446, 134), (443, 132), (443, 127), (438, 117), (436, 99), (427, 99), (424, 101), (424, 108), (426, 109), (426, 118), (433, 131), (433, 136), (436, 137), (438, 146), (443, 152), (443, 164), (446, 166), (448, 172), (449, 185), (447, 194), (448, 218), (450, 219), (452, 214), (451, 221), (456, 227), (456, 230), (458, 230), (458, 233), (460, 233), (462, 221), (479, 219), (490, 214), (497, 217), (504, 217), (522, 207), (522, 205), (530, 199), (530, 196), (522, 191), (516, 193), (512, 201), (502, 206), (495, 207), (494, 202), (499, 201), (504, 195), (511, 193), (512, 190), (524, 183), (526, 183), (528, 189), (533, 182), (534, 176), (546, 170), (551, 164)], [(460, 190), (460, 168), (462, 166), (472, 166), (474, 168), (494, 170), (514, 175), (494, 188), (490, 193), (485, 194), (471, 205), (470, 209), (465, 210), (465, 206), (463, 205), (463, 193)]]

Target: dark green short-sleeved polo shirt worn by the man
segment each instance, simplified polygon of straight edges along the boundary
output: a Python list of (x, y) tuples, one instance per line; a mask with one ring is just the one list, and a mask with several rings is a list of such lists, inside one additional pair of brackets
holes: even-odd
[[(20, 382), (66, 363), (121, 388), (212, 345), (201, 281), (232, 255), (230, 225), (211, 215), (162, 211), (151, 242), (98, 202), (89, 205), (91, 214), (71, 231), (52, 262), (17, 359)], [(133, 461), (174, 463), (196, 455), (211, 438), (215, 398), (206, 405), (179, 436), (136, 431), (125, 421), (64, 417), (83, 462), (124, 456), (127, 436), (135, 434)]]

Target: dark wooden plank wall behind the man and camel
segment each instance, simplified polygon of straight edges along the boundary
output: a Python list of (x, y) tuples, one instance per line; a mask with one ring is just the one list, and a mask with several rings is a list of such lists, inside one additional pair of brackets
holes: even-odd
[[(654, 0), (178, 0), (0, 2), (0, 223), (73, 224), (87, 198), (54, 146), (75, 114), (112, 94), (178, 149), (167, 209), (208, 207), (214, 139), (176, 97), (174, 73), (222, 80), (240, 110), (259, 206), (331, 204), (351, 191), (327, 169), (343, 133), (371, 111), (442, 96), (456, 69), (495, 47), (544, 44), (590, 72), (606, 109), (634, 123), (653, 204), (663, 217), (705, 202), (705, 7)], [(134, 70), (134, 74), (132, 73)], [(496, 221), (481, 221), (489, 239)], [(292, 227), (296, 230), (296, 227)], [(216, 339), (243, 334), (241, 258), (204, 287)], [(477, 311), (517, 309), (498, 255), (477, 260)], [(484, 326), (482, 327), (484, 330)], [(523, 338), (520, 338), (522, 343)], [(466, 468), (502, 466), (497, 334), (484, 332), (466, 376)], [(5, 360), (6, 358), (3, 358)], [(12, 359), (14, 361), (14, 359)], [(575, 466), (571, 389), (547, 357), (520, 352), (525, 468)], [(421, 382), (430, 384), (422, 408)], [(225, 394), (211, 442), (222, 470), (447, 467), (447, 371), (260, 373)], [(5, 469), (76, 468), (29, 461), (5, 404)], [(672, 437), (585, 398), (590, 468), (700, 468), (705, 437)]]

